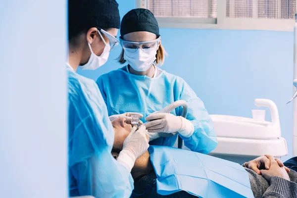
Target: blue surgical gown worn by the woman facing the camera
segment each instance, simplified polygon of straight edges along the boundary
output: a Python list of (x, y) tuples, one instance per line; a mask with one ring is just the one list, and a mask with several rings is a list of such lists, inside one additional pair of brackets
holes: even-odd
[[(185, 146), (192, 151), (209, 153), (216, 148), (217, 138), (202, 100), (182, 78), (156, 68), (159, 75), (155, 78), (131, 74), (126, 66), (101, 75), (96, 83), (106, 103), (108, 115), (139, 112), (144, 115), (142, 121), (145, 122), (145, 117), (154, 111), (174, 101), (186, 100), (189, 107), (187, 119), (193, 123), (194, 133), (189, 138), (181, 137)], [(180, 116), (182, 110), (179, 107), (171, 113)], [(151, 141), (150, 145), (172, 147), (177, 136), (161, 137)]]

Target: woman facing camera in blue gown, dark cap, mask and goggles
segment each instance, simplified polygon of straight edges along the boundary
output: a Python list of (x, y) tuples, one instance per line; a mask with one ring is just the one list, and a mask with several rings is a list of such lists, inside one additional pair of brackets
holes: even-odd
[[(201, 99), (181, 77), (157, 67), (164, 62), (165, 50), (154, 15), (148, 9), (133, 9), (123, 17), (120, 32), (119, 62), (128, 64), (97, 80), (108, 115), (143, 114), (142, 121), (150, 121), (146, 124), (150, 145), (173, 146), (179, 135), (192, 151), (209, 153), (216, 148), (213, 122)], [(152, 114), (180, 99), (188, 102), (187, 118), (181, 117), (182, 107)]]

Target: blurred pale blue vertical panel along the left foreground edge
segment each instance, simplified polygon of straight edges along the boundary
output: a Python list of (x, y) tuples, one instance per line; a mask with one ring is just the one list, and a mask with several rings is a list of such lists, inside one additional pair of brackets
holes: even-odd
[(66, 198), (66, 0), (0, 5), (0, 197)]

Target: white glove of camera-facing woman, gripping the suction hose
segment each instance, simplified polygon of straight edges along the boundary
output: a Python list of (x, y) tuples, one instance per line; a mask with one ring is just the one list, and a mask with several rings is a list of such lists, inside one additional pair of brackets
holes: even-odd
[[(149, 133), (173, 133), (178, 131), (183, 137), (189, 138), (194, 133), (194, 126), (190, 120), (171, 113), (154, 113), (146, 117)], [(152, 120), (152, 121), (151, 121)]]

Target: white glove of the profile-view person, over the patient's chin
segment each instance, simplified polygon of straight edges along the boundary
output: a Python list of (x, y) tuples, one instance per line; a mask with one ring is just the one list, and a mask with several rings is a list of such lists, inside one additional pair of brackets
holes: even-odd
[(135, 160), (148, 150), (148, 138), (146, 136), (146, 127), (143, 125), (137, 131), (133, 127), (128, 137), (123, 143), (123, 149), (119, 153), (117, 161), (124, 165), (131, 172)]

